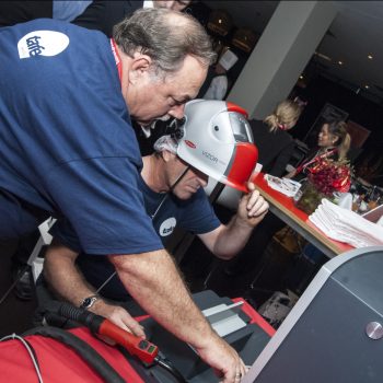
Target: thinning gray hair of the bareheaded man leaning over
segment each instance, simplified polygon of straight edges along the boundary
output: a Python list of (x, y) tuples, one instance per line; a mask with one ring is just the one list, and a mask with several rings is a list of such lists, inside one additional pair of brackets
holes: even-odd
[(165, 74), (178, 71), (188, 55), (207, 67), (216, 60), (202, 25), (189, 14), (167, 9), (137, 10), (114, 26), (113, 37), (126, 55), (134, 57), (136, 51), (148, 55), (154, 70)]

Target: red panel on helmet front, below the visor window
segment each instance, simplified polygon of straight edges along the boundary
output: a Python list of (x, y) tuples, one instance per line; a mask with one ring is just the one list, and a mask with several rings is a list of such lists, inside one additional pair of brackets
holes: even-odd
[(258, 160), (258, 149), (249, 142), (239, 142), (235, 158), (228, 174), (228, 184), (242, 192), (247, 190), (247, 181)]

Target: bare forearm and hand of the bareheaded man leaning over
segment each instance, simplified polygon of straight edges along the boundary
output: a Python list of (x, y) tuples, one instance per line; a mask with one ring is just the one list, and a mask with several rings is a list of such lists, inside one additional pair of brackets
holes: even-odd
[(196, 349), (222, 382), (240, 382), (243, 361), (196, 306), (167, 253), (111, 255), (109, 259), (130, 295), (158, 324)]

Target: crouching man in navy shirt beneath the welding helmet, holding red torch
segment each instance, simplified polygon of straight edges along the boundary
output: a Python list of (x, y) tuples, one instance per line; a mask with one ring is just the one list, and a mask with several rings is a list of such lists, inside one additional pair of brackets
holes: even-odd
[[(206, 125), (192, 129), (199, 130), (201, 136), (207, 130)], [(195, 144), (199, 146), (196, 141)], [(166, 244), (174, 229), (182, 228), (196, 234), (217, 257), (231, 259), (263, 220), (268, 204), (258, 190), (252, 190), (241, 199), (231, 221), (222, 224), (204, 192), (208, 175), (199, 170), (198, 163), (195, 162), (194, 167), (192, 161), (186, 162), (178, 156), (177, 147), (176, 139), (163, 136), (154, 143), (155, 153), (142, 159), (140, 189), (154, 230), (162, 243)], [(200, 159), (207, 170), (214, 169), (208, 159)], [(84, 297), (93, 295), (95, 300), (90, 310), (117, 323), (126, 322), (128, 326), (131, 321), (129, 314), (117, 305), (127, 307), (131, 299), (116, 276), (109, 278), (114, 274), (113, 265), (106, 257), (83, 253), (68, 222), (56, 225), (51, 234), (55, 245), (47, 251), (44, 275), (56, 295), (76, 306), (82, 303)], [(60, 247), (60, 244), (71, 251)], [(62, 252), (61, 256), (57, 252)], [(83, 275), (85, 283), (81, 283), (79, 272)], [(106, 280), (108, 282), (105, 283)], [(73, 285), (76, 289), (72, 289)]]

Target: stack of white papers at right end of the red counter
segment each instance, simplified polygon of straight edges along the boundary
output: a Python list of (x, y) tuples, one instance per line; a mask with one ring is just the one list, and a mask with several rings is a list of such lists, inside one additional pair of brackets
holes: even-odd
[(322, 199), (322, 204), (309, 219), (335, 241), (345, 242), (355, 247), (383, 245), (382, 227), (327, 199)]

